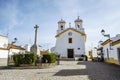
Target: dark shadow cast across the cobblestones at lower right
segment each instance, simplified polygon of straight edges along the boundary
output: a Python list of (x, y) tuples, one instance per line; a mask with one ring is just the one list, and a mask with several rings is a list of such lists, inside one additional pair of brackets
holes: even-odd
[(78, 62), (86, 65), (86, 69), (63, 69), (54, 76), (87, 75), (89, 80), (120, 80), (120, 66), (102, 62)]

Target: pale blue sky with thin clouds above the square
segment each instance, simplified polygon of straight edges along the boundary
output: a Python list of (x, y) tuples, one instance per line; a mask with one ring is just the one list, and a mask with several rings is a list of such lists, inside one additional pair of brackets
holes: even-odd
[(62, 18), (68, 27), (80, 16), (87, 34), (86, 46), (96, 46), (105, 40), (105, 29), (111, 36), (120, 34), (119, 0), (0, 0), (0, 35), (9, 32), (9, 41), (33, 44), (34, 25), (39, 25), (38, 43), (43, 48), (55, 45), (57, 22)]

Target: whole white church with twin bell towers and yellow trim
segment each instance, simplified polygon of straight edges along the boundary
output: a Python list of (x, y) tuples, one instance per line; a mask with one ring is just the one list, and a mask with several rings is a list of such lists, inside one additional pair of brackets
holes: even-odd
[(74, 21), (75, 27), (69, 25), (68, 28), (64, 20), (58, 22), (56, 45), (52, 50), (61, 58), (76, 59), (81, 54), (85, 54), (86, 34), (82, 22), (78, 17)]

